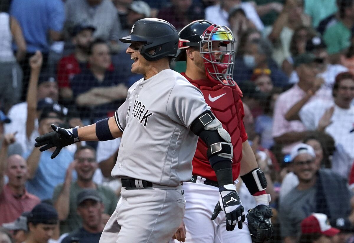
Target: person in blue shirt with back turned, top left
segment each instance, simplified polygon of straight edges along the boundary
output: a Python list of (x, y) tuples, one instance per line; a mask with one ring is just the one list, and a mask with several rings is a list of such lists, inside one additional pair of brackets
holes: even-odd
[[(36, 51), (43, 53), (43, 68), (47, 66), (49, 42), (61, 39), (65, 12), (62, 0), (13, 0), (10, 15), (22, 28), (27, 54), (21, 60), (23, 70), (22, 100), (26, 97), (30, 75), (29, 58)], [(17, 45), (14, 46), (18, 50)]]

